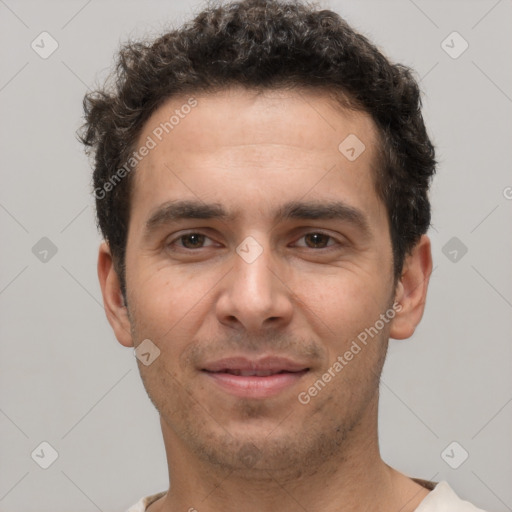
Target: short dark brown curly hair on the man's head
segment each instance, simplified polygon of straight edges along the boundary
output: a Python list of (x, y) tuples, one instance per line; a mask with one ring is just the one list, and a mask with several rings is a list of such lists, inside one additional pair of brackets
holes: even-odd
[[(177, 94), (242, 85), (321, 88), (373, 118), (380, 158), (375, 189), (387, 207), (395, 280), (430, 226), (435, 151), (412, 70), (391, 63), (338, 14), (315, 4), (242, 0), (209, 4), (154, 41), (129, 41), (105, 85), (83, 101), (80, 141), (95, 156), (97, 225), (108, 242), (126, 301), (125, 252), (132, 174), (105, 187), (134, 151), (145, 121)], [(135, 166), (134, 166), (135, 167)], [(111, 189), (111, 190), (110, 190)]]

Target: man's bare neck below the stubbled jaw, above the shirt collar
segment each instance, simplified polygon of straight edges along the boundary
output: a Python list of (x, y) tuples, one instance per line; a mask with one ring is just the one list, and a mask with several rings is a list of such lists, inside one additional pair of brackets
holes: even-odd
[[(183, 446), (161, 421), (170, 490), (148, 512), (364, 512), (375, 508), (412, 512), (428, 491), (382, 461), (377, 403), (369, 409), (371, 433), (367, 428), (355, 428), (321, 464), (279, 471), (233, 471), (208, 464)], [(364, 423), (368, 425), (368, 421)]]

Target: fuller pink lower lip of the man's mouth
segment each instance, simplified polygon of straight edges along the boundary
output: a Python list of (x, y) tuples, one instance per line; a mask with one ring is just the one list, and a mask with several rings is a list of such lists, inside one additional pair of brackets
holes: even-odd
[(293, 373), (276, 373), (265, 377), (242, 376), (231, 373), (207, 372), (224, 391), (243, 398), (268, 398), (296, 384), (308, 370)]

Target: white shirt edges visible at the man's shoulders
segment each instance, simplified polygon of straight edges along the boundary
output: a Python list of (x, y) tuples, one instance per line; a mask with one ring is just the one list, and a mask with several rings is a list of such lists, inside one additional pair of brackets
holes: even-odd
[[(159, 492), (151, 496), (141, 498), (133, 507), (126, 512), (146, 512), (146, 508), (158, 498), (166, 494), (167, 491)], [(468, 501), (461, 500), (448, 485), (448, 482), (442, 481), (436, 484), (423, 501), (416, 508), (415, 512), (485, 512), (481, 508), (476, 508)]]

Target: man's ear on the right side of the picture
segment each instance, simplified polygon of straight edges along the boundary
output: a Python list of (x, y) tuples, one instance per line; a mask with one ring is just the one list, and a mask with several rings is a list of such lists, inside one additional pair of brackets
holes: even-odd
[(396, 286), (395, 302), (401, 305), (401, 309), (396, 308), (396, 315), (391, 322), (391, 338), (403, 340), (413, 335), (425, 310), (431, 273), (430, 239), (427, 235), (422, 235), (406, 256), (402, 276)]

